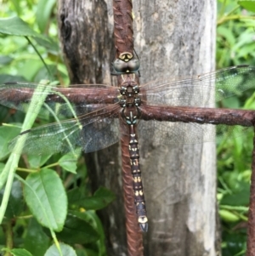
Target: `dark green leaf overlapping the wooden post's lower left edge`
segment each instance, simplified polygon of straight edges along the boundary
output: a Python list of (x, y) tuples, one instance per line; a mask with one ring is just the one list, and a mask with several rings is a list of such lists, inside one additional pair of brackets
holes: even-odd
[(104, 187), (100, 187), (95, 191), (94, 196), (83, 196), (82, 192), (78, 189), (69, 191), (67, 196), (70, 205), (77, 204), (86, 210), (99, 210), (105, 208), (116, 198), (114, 193)]

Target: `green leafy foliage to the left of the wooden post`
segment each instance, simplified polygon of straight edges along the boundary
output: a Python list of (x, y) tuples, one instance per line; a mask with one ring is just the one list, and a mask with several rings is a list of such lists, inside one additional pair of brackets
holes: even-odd
[[(55, 83), (68, 84), (59, 50), (55, 2), (3, 3), (0, 9), (1, 83), (41, 82), (48, 78)], [(3, 174), (12, 156), (8, 141), (20, 133), (24, 114), (1, 105), (0, 120), (3, 124), (0, 127), (2, 184), (3, 178), (9, 177)], [(52, 117), (43, 116), (37, 118), (34, 125), (53, 121)], [(7, 122), (12, 125), (6, 126)], [(7, 218), (0, 230), (4, 255), (105, 255), (105, 234), (95, 211), (105, 208), (115, 196), (105, 188), (91, 195), (82, 157), (70, 154), (22, 156), (17, 170), (19, 176), (15, 176)], [(7, 190), (8, 185), (0, 192), (1, 201)]]

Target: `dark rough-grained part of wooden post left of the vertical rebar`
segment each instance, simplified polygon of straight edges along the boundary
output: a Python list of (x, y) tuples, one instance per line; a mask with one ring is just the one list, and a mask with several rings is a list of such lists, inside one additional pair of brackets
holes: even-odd
[[(59, 39), (71, 84), (115, 83), (111, 79), (111, 61), (116, 54), (111, 0), (107, 3), (59, 0), (58, 15)], [(104, 185), (116, 194), (116, 201), (99, 211), (105, 227), (107, 253), (127, 255), (119, 145), (89, 153), (85, 159), (92, 190)]]

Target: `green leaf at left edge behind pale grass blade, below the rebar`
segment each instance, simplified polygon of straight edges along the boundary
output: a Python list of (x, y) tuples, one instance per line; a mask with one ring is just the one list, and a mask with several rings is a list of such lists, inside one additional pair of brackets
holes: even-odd
[(9, 154), (8, 143), (11, 139), (20, 134), (20, 128), (12, 126), (0, 127), (0, 160), (4, 159)]

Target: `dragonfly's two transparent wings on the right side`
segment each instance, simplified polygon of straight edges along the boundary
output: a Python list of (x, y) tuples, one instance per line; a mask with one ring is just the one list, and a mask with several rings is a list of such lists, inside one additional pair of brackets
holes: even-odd
[[(150, 105), (208, 106), (255, 88), (255, 67), (233, 66), (205, 75), (178, 81), (161, 80), (144, 85), (144, 100)], [(202, 110), (201, 110), (202, 111)], [(249, 121), (247, 121), (249, 122)], [(252, 126), (252, 123), (251, 123)], [(246, 134), (241, 126), (198, 124), (192, 122), (139, 121), (139, 134), (154, 138), (156, 144), (194, 144)]]

